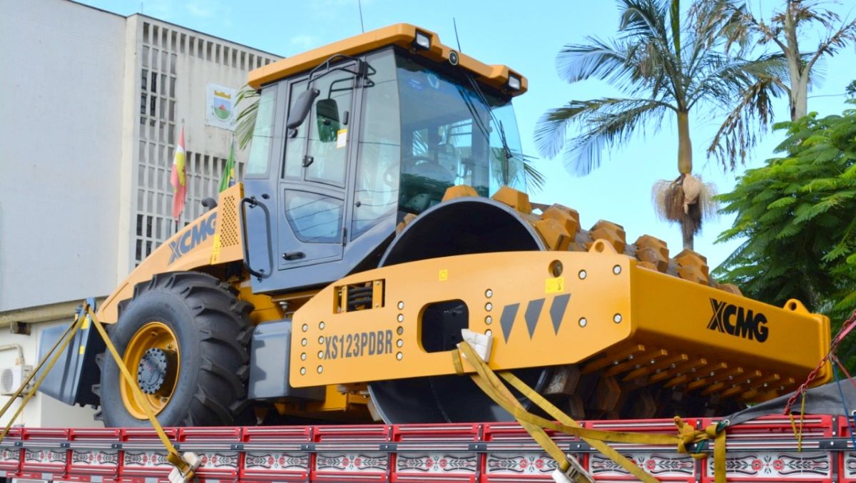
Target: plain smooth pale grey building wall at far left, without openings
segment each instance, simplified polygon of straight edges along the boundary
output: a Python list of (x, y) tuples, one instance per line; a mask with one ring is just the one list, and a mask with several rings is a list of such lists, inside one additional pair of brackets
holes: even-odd
[(76, 3), (3, 2), (0, 312), (116, 283), (124, 29)]

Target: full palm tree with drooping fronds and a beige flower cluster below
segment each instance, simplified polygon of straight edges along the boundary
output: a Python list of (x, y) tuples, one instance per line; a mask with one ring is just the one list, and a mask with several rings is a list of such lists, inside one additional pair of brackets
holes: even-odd
[[(547, 158), (564, 152), (565, 167), (585, 176), (601, 164), (605, 148), (621, 146), (639, 128), (654, 128), (666, 116), (677, 124), (678, 174), (654, 187), (657, 212), (681, 224), (683, 245), (693, 249), (693, 237), (706, 215), (716, 207), (710, 200), (713, 187), (693, 176), (693, 144), (690, 112), (698, 104), (711, 108), (733, 106), (714, 142), (723, 167), (734, 170), (744, 162), (756, 130), (772, 120), (772, 82), (781, 63), (761, 57), (747, 61), (729, 56), (722, 18), (698, 3), (681, 25), (679, 0), (620, 0), (621, 22), (614, 39), (586, 38), (586, 44), (565, 45), (556, 57), (556, 69), (568, 82), (606, 80), (626, 97), (572, 100), (548, 110), (538, 121), (535, 141)], [(748, 123), (749, 120), (752, 125)], [(581, 133), (566, 140), (568, 128)]]

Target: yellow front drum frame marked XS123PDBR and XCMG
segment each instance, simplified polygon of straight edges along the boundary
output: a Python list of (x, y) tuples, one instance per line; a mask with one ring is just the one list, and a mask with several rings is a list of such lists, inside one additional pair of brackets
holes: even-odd
[[(382, 292), (372, 307), (342, 311), (342, 291), (369, 283)], [(469, 330), (493, 336), (496, 370), (579, 364), (746, 401), (793, 391), (829, 340), (829, 319), (797, 301), (773, 307), (670, 277), (599, 241), (587, 253), (461, 255), (344, 278), (294, 314), (291, 384), (454, 374), (448, 350), (421, 343), (425, 308), (454, 299)]]

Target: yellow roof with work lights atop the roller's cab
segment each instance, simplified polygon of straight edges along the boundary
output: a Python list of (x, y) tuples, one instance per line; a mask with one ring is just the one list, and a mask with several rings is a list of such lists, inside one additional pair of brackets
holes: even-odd
[[(410, 49), (416, 40), (417, 31), (431, 37), (431, 46), (427, 50), (413, 49), (416, 52), (415, 55), (421, 55), (435, 62), (449, 62), (449, 56), (453, 49), (441, 44), (437, 33), (407, 23), (397, 23), (389, 27), (361, 33), (349, 39), (339, 40), (338, 42), (324, 45), (311, 51), (302, 52), (293, 57), (286, 57), (275, 63), (269, 63), (264, 67), (251, 71), (247, 84), (254, 89), (259, 89), (270, 82), (282, 80), (291, 75), (313, 69), (336, 54), (357, 56), (387, 45), (399, 45)], [(456, 53), (459, 59), (458, 67), (472, 72), (476, 80), (484, 82), (484, 84), (489, 86), (494, 86), (497, 89), (504, 89), (508, 86), (508, 75), (513, 74), (520, 78), (520, 89), (511, 91), (510, 94), (516, 96), (526, 92), (526, 77), (509, 69), (508, 66), (488, 65), (461, 52)]]

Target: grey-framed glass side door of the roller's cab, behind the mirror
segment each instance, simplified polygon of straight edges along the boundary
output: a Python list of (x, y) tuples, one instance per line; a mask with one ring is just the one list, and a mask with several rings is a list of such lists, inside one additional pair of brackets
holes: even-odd
[[(318, 89), (318, 97), (306, 120), (286, 133), (278, 193), (280, 270), (342, 259), (350, 217), (353, 71), (353, 67), (336, 69), (313, 79), (311, 87)], [(290, 112), (300, 92), (306, 91), (306, 79), (295, 80), (288, 88)]]

